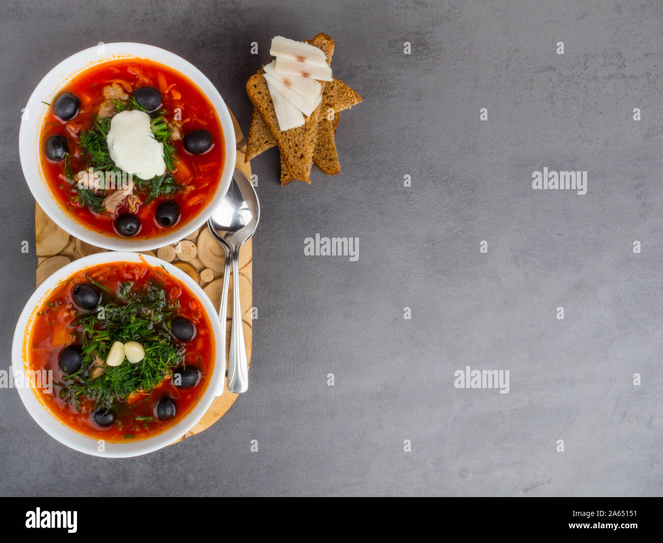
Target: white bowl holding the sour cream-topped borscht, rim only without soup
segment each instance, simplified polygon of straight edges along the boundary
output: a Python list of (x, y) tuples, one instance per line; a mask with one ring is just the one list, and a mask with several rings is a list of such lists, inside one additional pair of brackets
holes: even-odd
[[(99, 52), (99, 47), (91, 47), (78, 52), (66, 60), (63, 60), (53, 68), (39, 82), (23, 113), (21, 121), (21, 132), (19, 133), (19, 155), (21, 156), (21, 166), (23, 175), (28, 183), (32, 196), (41, 206), (42, 210), (53, 219), (58, 226), (68, 233), (105, 249), (115, 251), (147, 251), (156, 249), (170, 243), (180, 241), (194, 230), (200, 228), (210, 217), (213, 209), (221, 202), (225, 192), (230, 186), (233, 170), (235, 169), (235, 129), (228, 109), (219, 95), (219, 92), (211, 84), (196, 66), (190, 64), (171, 52), (145, 45), (142, 43), (107, 43), (103, 45), (103, 52)], [(93, 231), (83, 223), (76, 221), (67, 213), (57, 200), (51, 194), (48, 184), (44, 178), (44, 172), (40, 163), (40, 132), (44, 117), (48, 112), (48, 105), (42, 103), (52, 103), (52, 100), (58, 95), (60, 90), (80, 72), (108, 60), (117, 60), (120, 58), (147, 58), (160, 64), (170, 66), (189, 78), (206, 95), (211, 105), (216, 110), (216, 114), (221, 122), (223, 129), (223, 139), (225, 140), (225, 163), (219, 186), (210, 199), (207, 206), (188, 223), (181, 227), (169, 231), (166, 235), (154, 237), (151, 239), (121, 239), (111, 237)]]

